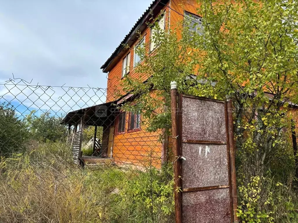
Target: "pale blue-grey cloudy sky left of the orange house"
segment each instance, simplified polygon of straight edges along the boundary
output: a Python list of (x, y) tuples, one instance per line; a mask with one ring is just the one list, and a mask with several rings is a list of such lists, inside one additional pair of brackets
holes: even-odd
[[(13, 73), (27, 81), (33, 78), (32, 84), (105, 88), (106, 74), (100, 66), (151, 3), (152, 0), (0, 0), (0, 84), (12, 78)], [(64, 102), (57, 105), (57, 101), (68, 89), (55, 89), (50, 97), (53, 100), (47, 96), (51, 89), (45, 92), (26, 88), (21, 89), (22, 94), (15, 87), (9, 90), (7, 93), (7, 86), (0, 85), (0, 102), (3, 98), (11, 101), (22, 113), (43, 104), (59, 110)], [(88, 97), (92, 95), (93, 92)], [(102, 92), (95, 95), (98, 97), (79, 101), (81, 96), (74, 93), (75, 101), (67, 102), (64, 110), (77, 109), (76, 103), (86, 107), (104, 102)], [(43, 100), (35, 101), (38, 97)]]

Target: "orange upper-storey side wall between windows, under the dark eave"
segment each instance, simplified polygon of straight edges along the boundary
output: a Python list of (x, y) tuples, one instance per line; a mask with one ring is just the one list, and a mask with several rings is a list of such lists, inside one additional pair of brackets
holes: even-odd
[[(168, 19), (169, 19), (169, 15), (170, 15), (170, 11), (169, 8), (164, 6), (163, 10), (165, 11), (165, 18), (166, 18), (166, 24), (168, 24)], [(161, 11), (161, 12), (162, 12)], [(166, 25), (166, 28), (168, 26)], [(149, 27), (147, 29), (145, 29), (144, 32), (142, 32), (141, 36), (145, 36), (145, 43), (147, 46), (147, 51), (149, 52), (149, 45), (150, 45), (150, 29)], [(125, 56), (129, 53), (131, 53), (131, 60), (130, 60), (130, 73), (129, 75), (132, 77), (139, 77), (139, 74), (135, 72), (134, 70), (134, 46), (138, 43), (138, 40), (136, 40), (136, 42), (131, 46), (131, 49), (128, 49), (125, 53)], [(113, 101), (118, 99), (119, 97), (117, 97), (115, 95), (118, 94), (117, 92), (120, 92), (122, 95), (125, 95), (128, 92), (123, 92), (121, 91), (122, 87), (121, 87), (121, 77), (122, 77), (122, 59), (125, 57), (123, 56), (118, 62), (117, 64), (112, 68), (112, 70), (108, 73), (108, 84), (107, 84), (107, 102), (109, 101)], [(144, 80), (145, 81), (145, 80)]]

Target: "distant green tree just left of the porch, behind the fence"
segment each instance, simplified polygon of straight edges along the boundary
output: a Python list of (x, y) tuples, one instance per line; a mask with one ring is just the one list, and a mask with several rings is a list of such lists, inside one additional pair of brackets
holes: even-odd
[(47, 111), (38, 116), (36, 111), (33, 110), (30, 114), (26, 115), (26, 123), (33, 140), (46, 142), (58, 142), (65, 140), (67, 136), (67, 128), (61, 125), (62, 117), (56, 114), (52, 115)]

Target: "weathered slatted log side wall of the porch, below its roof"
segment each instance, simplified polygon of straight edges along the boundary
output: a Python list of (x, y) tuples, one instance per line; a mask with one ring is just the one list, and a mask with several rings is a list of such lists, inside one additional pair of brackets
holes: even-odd
[(79, 165), (81, 160), (82, 131), (69, 134), (67, 146), (71, 149), (74, 163)]

